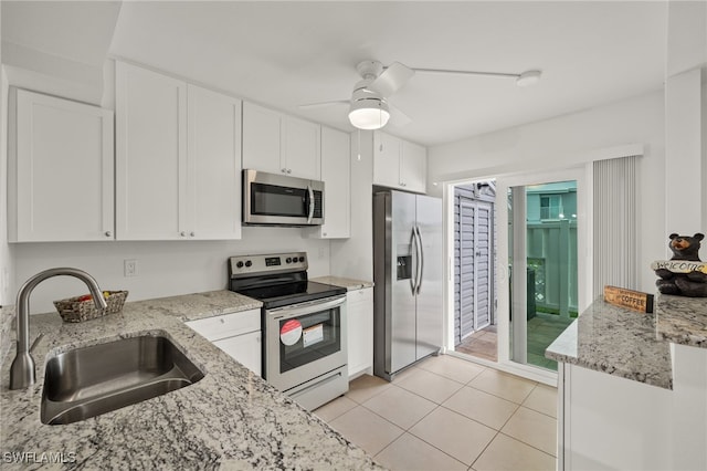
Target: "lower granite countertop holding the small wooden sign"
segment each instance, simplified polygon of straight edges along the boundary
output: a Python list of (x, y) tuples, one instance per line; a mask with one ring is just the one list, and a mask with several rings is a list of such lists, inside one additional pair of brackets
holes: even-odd
[(547, 348), (556, 362), (666, 389), (673, 388), (671, 346), (655, 336), (655, 315), (597, 299)]

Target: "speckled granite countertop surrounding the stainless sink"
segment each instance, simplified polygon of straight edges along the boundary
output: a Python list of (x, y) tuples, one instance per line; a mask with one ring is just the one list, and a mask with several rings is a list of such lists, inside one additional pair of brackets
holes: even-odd
[[(77, 324), (56, 313), (32, 315), (30, 339), (45, 334), (33, 353), (36, 383), (8, 389), (12, 348), (1, 370), (0, 451), (35, 454), (15, 463), (3, 458), (3, 469), (42, 468), (42, 453), (68, 457), (62, 469), (379, 469), (361, 449), (183, 323), (258, 307), (257, 301), (217, 291), (126, 303), (120, 313)], [(143, 334), (169, 337), (204, 378), (84, 421), (40, 421), (48, 357)]]

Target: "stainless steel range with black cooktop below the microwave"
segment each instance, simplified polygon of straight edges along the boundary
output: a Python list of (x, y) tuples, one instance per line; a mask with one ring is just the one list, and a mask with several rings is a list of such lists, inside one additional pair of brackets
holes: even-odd
[(307, 266), (306, 252), (232, 257), (229, 289), (263, 302), (263, 377), (312, 410), (348, 390), (346, 289)]

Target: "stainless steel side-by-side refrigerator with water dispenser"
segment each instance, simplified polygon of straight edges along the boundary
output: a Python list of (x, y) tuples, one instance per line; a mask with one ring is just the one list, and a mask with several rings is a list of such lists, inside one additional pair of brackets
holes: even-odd
[(442, 346), (442, 200), (373, 193), (373, 374), (388, 380)]

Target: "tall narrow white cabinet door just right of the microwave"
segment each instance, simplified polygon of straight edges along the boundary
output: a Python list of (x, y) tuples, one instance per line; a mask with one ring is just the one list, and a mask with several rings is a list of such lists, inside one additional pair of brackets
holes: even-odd
[(321, 180), (324, 180), (324, 224), (318, 236), (341, 239), (351, 234), (351, 145), (349, 135), (321, 128)]

